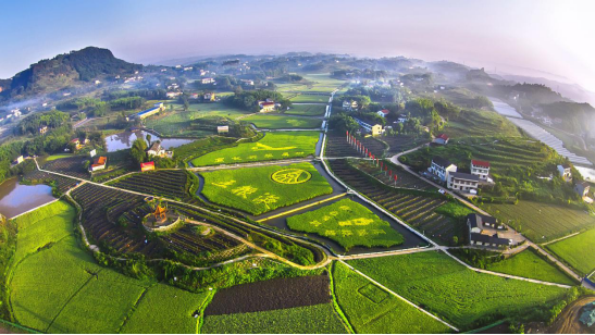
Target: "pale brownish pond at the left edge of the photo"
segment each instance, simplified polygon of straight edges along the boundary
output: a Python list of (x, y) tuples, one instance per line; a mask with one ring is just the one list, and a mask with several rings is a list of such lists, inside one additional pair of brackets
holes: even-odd
[(0, 185), (0, 213), (7, 218), (30, 211), (54, 199), (51, 187), (47, 185), (21, 185), (16, 178)]

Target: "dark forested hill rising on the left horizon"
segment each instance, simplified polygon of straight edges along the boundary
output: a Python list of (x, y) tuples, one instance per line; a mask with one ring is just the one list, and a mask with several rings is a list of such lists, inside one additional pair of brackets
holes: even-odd
[(60, 90), (85, 82), (134, 73), (142, 65), (116, 59), (108, 49), (85, 48), (42, 60), (16, 74), (12, 79), (0, 80), (0, 96), (4, 99), (17, 96)]

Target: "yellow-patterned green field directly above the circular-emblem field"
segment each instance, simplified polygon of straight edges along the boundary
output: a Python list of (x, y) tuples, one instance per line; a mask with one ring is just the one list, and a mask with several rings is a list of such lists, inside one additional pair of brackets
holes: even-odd
[(194, 166), (209, 166), (306, 158), (315, 154), (319, 138), (318, 132), (268, 133), (257, 142), (210, 152), (191, 163)]

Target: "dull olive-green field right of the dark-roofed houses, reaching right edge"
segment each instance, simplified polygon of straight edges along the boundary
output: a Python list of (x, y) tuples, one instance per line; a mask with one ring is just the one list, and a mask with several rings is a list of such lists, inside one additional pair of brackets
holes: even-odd
[(535, 243), (546, 243), (595, 226), (595, 218), (588, 213), (550, 203), (521, 200), (518, 204), (485, 203), (483, 208)]

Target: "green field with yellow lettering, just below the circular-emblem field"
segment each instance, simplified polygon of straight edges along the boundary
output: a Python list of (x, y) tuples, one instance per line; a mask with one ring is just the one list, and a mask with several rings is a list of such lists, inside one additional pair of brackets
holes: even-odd
[(313, 233), (337, 241), (346, 251), (354, 247), (393, 247), (402, 235), (365, 207), (344, 199), (319, 210), (287, 219), (293, 231)]

